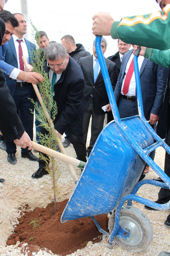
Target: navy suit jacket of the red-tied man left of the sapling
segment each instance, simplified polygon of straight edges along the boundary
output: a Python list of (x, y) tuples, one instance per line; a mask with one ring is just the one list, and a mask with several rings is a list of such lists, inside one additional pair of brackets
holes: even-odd
[[(29, 58), (30, 58), (30, 63), (31, 63), (32, 62), (31, 52), (32, 52), (32, 50), (35, 50), (35, 45), (32, 44), (32, 42), (28, 41), (27, 39), (25, 39), (25, 41), (26, 41)], [(12, 36), (11, 36), (11, 39), (8, 41), (8, 48), (7, 48), (6, 55), (5, 55), (5, 62), (15, 68), (18, 68), (16, 50), (15, 50), (14, 40), (13, 40)], [(13, 96), (14, 92), (15, 92), (15, 87), (16, 87), (16, 80), (7, 79), (7, 86), (10, 90), (11, 96)]]

